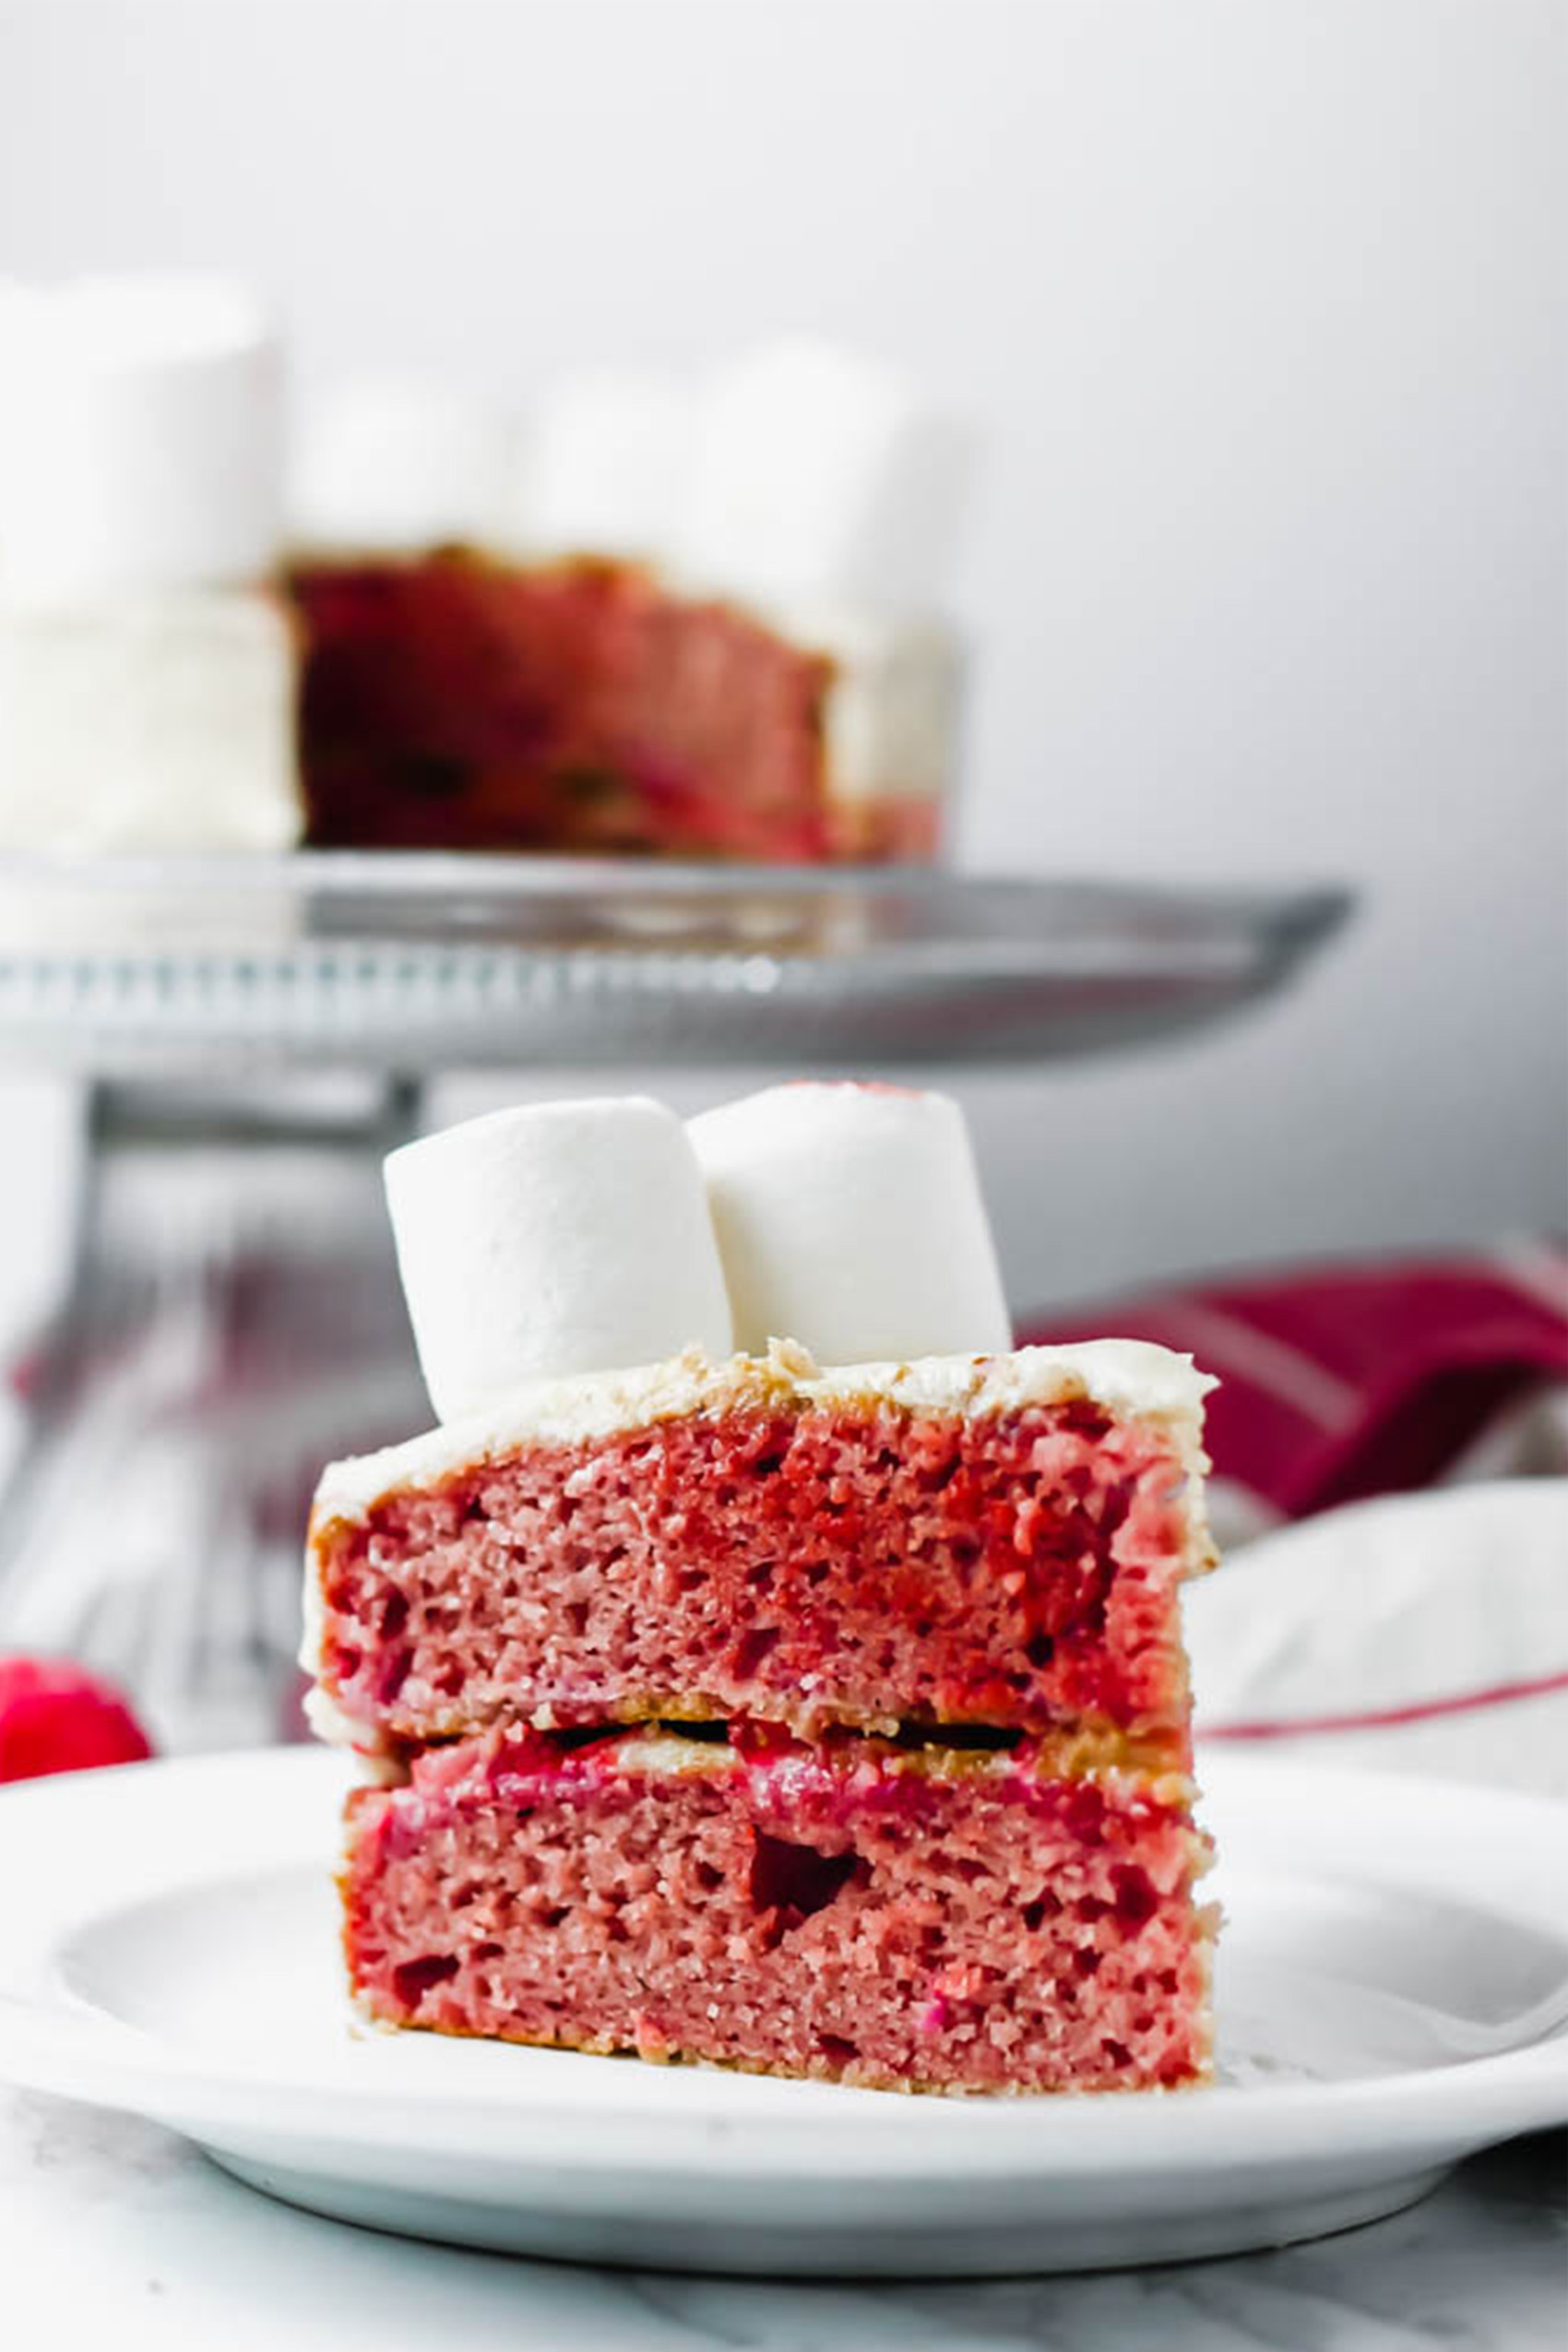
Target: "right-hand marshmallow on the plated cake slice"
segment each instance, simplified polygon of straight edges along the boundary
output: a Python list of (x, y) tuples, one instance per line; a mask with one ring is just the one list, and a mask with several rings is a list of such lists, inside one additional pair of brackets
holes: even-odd
[(820, 1364), (1013, 1345), (964, 1112), (900, 1087), (769, 1087), (689, 1122), (736, 1345)]

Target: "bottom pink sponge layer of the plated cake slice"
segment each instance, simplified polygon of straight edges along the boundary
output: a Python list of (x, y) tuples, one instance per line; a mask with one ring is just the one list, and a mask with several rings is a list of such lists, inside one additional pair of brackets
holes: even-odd
[(905, 2091), (1208, 2067), (1190, 1783), (1093, 1748), (489, 1733), (348, 1802), (388, 2025)]

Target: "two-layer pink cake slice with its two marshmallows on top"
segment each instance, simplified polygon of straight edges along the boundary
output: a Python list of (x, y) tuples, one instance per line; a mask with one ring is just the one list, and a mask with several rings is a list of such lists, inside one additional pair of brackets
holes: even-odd
[[(310, 1526), (362, 2013), (884, 2089), (1201, 2079), (1204, 1378), (1006, 1345), (940, 1096), (501, 1112), (388, 1181), (461, 1414), (329, 1468)], [(668, 1352), (581, 1362), (616, 1317)], [(818, 1364), (846, 1317), (865, 1359)]]

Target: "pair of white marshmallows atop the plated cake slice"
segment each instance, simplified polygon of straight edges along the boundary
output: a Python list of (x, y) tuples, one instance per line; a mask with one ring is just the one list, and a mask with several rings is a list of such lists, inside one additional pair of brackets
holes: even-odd
[(997, 1352), (1011, 1327), (957, 1103), (769, 1087), (501, 1110), (393, 1152), (397, 1263), (442, 1421), (520, 1381), (792, 1338), (820, 1362)]

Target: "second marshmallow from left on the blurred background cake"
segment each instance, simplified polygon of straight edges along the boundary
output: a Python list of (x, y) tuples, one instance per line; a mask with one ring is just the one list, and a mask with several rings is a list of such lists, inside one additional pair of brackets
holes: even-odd
[(482, 546), (510, 468), (512, 426), (461, 386), (360, 376), (303, 414), (289, 527), (306, 546), (409, 553)]

